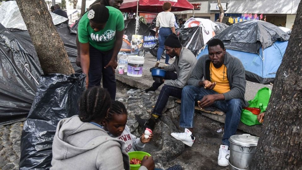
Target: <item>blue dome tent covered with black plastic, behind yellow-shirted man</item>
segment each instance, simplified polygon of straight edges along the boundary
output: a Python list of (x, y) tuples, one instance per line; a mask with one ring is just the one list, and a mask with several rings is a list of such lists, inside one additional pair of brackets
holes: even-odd
[[(248, 20), (227, 27), (213, 38), (220, 39), (226, 51), (241, 60), (246, 80), (269, 84), (275, 80), (289, 35), (271, 23)], [(197, 58), (204, 54), (208, 54), (207, 46)]]

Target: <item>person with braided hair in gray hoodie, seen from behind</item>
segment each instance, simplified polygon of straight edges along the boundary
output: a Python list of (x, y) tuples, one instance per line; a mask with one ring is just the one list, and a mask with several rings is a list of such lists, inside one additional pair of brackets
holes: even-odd
[[(130, 169), (126, 143), (112, 138), (101, 126), (111, 107), (110, 94), (101, 87), (86, 89), (80, 98), (79, 115), (62, 119), (53, 139), (50, 169)], [(139, 170), (153, 170), (152, 157)]]

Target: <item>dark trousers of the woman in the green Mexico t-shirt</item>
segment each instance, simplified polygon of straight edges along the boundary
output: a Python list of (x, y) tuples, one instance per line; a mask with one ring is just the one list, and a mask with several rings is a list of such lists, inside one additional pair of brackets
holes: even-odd
[(89, 84), (88, 88), (100, 86), (103, 77), (103, 88), (106, 88), (112, 100), (115, 100), (116, 80), (115, 72), (112, 67), (104, 68), (112, 58), (113, 49), (109, 51), (99, 51), (98, 49), (89, 47)]

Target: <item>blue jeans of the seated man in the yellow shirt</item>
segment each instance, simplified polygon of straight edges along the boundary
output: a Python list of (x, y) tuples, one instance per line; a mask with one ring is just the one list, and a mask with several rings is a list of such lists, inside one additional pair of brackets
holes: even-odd
[[(182, 89), (182, 104), (180, 115), (180, 127), (193, 128), (195, 102), (201, 100), (205, 95), (218, 94), (214, 90), (206, 90), (203, 87), (185, 86)], [(242, 109), (241, 99), (215, 101), (212, 105), (226, 113), (224, 124), (224, 135), (222, 144), (230, 145), (230, 136), (236, 134)]]

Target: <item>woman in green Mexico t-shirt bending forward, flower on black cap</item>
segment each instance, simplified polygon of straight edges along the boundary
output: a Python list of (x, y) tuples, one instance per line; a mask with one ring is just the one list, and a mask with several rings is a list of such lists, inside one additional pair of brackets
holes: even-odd
[[(108, 22), (107, 22), (108, 21)], [(106, 88), (115, 99), (117, 54), (124, 35), (124, 18), (120, 10), (102, 4), (92, 5), (78, 25), (81, 67), (86, 88), (99, 86), (103, 77)]]

